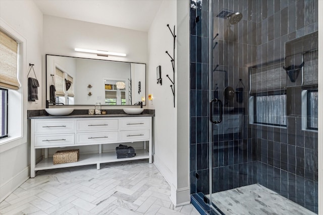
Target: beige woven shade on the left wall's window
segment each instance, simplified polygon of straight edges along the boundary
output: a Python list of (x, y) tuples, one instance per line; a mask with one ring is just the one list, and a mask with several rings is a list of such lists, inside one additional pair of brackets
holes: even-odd
[(0, 87), (18, 90), (18, 43), (0, 31)]

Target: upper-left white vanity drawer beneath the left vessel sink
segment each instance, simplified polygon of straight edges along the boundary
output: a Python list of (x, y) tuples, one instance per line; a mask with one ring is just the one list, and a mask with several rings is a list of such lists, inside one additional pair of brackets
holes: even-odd
[(75, 132), (74, 120), (37, 120), (35, 133), (68, 133)]

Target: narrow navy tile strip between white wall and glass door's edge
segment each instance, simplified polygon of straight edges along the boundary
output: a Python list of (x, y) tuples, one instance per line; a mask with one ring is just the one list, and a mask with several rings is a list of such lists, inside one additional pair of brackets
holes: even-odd
[[(198, 17), (198, 18), (196, 18)], [(209, 193), (208, 4), (190, 9), (190, 181), (191, 193)], [(196, 177), (198, 174), (198, 178)]]

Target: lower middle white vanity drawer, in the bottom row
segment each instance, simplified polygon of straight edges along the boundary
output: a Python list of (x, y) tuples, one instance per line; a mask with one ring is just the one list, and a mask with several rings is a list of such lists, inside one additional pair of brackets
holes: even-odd
[(77, 144), (106, 144), (118, 141), (118, 131), (87, 132), (77, 134)]

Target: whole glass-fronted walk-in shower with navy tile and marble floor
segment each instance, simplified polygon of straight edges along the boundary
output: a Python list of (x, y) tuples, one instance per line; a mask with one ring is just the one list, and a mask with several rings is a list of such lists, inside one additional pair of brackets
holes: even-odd
[(200, 212), (317, 213), (317, 16), (317, 0), (191, 0)]

